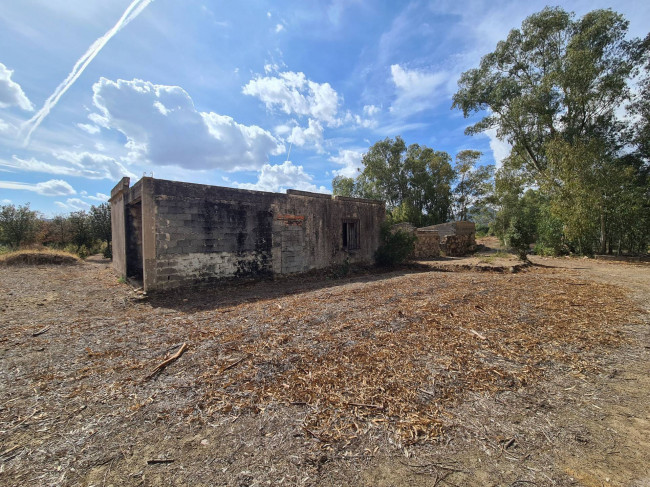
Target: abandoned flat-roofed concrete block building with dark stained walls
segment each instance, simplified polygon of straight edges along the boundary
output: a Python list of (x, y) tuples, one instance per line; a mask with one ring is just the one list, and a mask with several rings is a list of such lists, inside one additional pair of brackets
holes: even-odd
[(145, 291), (224, 278), (371, 264), (381, 201), (143, 177), (111, 191), (113, 267)]

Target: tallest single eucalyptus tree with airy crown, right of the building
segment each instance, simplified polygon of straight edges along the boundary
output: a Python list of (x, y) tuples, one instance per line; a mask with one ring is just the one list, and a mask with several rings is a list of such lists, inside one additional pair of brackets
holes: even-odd
[(462, 74), (453, 107), (487, 111), (468, 134), (496, 128), (512, 145), (506, 164), (521, 169), (551, 200), (580, 247), (612, 240), (620, 191), (639, 165), (622, 158), (615, 110), (630, 96), (641, 42), (611, 10), (575, 19), (545, 8), (510, 32), (480, 66)]

